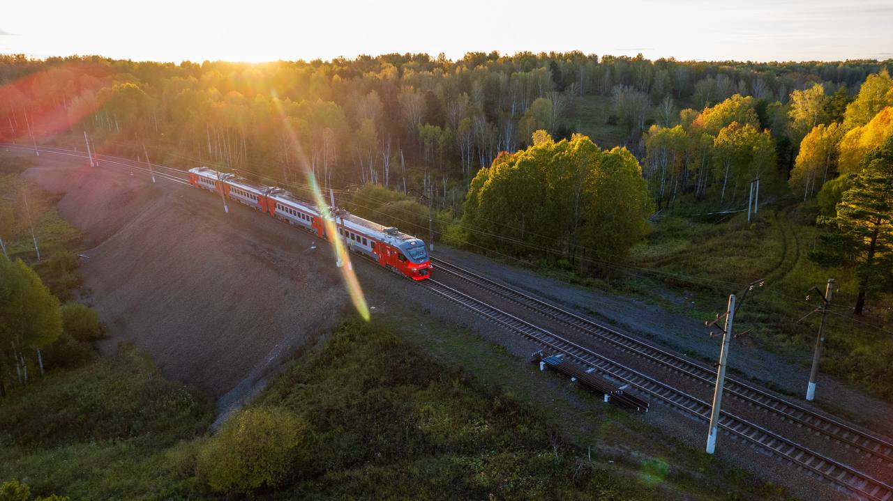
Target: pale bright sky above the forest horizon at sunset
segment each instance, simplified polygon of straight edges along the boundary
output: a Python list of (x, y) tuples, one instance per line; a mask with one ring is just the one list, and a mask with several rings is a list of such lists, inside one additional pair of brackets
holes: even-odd
[(0, 53), (135, 61), (580, 50), (649, 59), (893, 58), (893, 0), (4, 0)]

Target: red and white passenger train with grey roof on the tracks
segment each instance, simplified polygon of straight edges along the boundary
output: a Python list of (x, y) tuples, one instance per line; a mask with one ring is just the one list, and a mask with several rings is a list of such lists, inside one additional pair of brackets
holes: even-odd
[[(189, 184), (243, 203), (290, 225), (304, 228), (329, 240), (323, 218), (333, 218), (329, 208), (316, 206), (281, 188), (255, 185), (241, 177), (199, 167), (189, 169)], [(431, 262), (425, 242), (352, 214), (338, 215), (338, 234), (349, 250), (373, 259), (383, 267), (413, 280), (430, 276)], [(336, 221), (338, 222), (338, 221)]]

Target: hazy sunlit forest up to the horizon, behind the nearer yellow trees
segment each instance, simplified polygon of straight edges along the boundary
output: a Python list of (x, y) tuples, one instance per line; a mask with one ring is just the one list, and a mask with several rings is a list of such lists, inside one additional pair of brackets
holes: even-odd
[(325, 185), (415, 187), (445, 201), (453, 189), (461, 198), (499, 152), (529, 146), (534, 131), (555, 140), (580, 132), (587, 99), (608, 100), (604, 121), (622, 130), (618, 144), (600, 146), (626, 146), (641, 160), (641, 137), (664, 104), (700, 111), (741, 94), (783, 105), (815, 84), (852, 96), (888, 63), (491, 52), (177, 64), (20, 54), (0, 56), (0, 137), (83, 147), (86, 130), (100, 151), (136, 157), (146, 144), (155, 161), (286, 180), (305, 161)]

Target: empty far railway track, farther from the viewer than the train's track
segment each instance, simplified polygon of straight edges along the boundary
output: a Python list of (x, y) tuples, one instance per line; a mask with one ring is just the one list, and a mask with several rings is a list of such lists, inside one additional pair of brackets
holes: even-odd
[[(688, 358), (651, 346), (627, 334), (617, 332), (605, 325), (597, 324), (588, 318), (576, 315), (546, 301), (538, 300), (529, 294), (494, 282), (484, 276), (448, 263), (443, 259), (431, 258), (431, 261), (437, 263), (439, 271), (458, 276), (481, 289), (567, 325), (577, 332), (585, 333), (600, 341), (610, 343), (618, 349), (642, 357), (649, 362), (666, 366), (672, 371), (701, 382), (708, 387), (712, 388), (714, 386), (716, 381), (715, 370), (712, 367), (697, 364)], [(893, 442), (889, 439), (858, 430), (847, 423), (840, 422), (829, 416), (820, 415), (810, 409), (798, 406), (793, 402), (779, 398), (772, 395), (772, 393), (729, 376), (726, 376), (723, 394), (732, 398), (738, 398), (748, 405), (762, 408), (790, 423), (796, 423), (799, 426), (809, 428), (815, 433), (837, 440), (847, 447), (858, 449), (865, 456), (872, 456), (882, 462), (893, 464)]]

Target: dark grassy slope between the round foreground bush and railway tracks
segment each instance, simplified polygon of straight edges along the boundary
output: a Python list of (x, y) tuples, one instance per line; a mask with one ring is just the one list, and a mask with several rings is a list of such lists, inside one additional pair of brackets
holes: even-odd
[[(782, 497), (586, 392), (568, 406), (562, 378), (467, 332), (420, 318), (420, 335), (413, 315), (343, 325), (265, 391), (261, 403), (304, 414), (327, 444), (320, 472), (271, 497)], [(557, 459), (550, 427), (565, 436)], [(592, 470), (574, 479), (581, 444)]]

